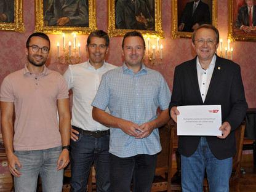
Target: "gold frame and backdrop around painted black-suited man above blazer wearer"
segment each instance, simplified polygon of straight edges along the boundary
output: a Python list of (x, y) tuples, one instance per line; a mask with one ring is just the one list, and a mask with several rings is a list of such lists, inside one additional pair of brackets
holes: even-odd
[[(192, 4), (190, 4), (189, 6), (189, 4), (187, 4), (188, 2), (191, 2)], [(207, 15), (210, 18), (210, 23), (217, 28), (217, 0), (201, 0), (199, 3), (204, 4), (204, 6), (201, 6), (201, 7), (209, 7), (209, 13)], [(172, 38), (173, 39), (192, 37), (193, 29), (190, 28), (190, 30), (192, 31), (180, 31), (178, 29), (179, 25), (181, 24), (182, 14), (184, 12), (187, 12), (188, 7), (193, 8), (192, 0), (186, 0), (186, 1), (172, 0)], [(207, 11), (207, 9), (203, 9), (203, 10)], [(195, 10), (195, 14), (197, 11), (199, 12), (199, 10)], [(191, 12), (192, 12), (192, 9), (191, 9)], [(203, 24), (203, 22), (201, 24)], [(185, 30), (185, 28), (183, 28), (183, 30)]]

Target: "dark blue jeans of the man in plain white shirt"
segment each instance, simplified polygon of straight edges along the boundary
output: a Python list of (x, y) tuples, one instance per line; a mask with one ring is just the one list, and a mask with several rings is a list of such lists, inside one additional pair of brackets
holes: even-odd
[(97, 192), (110, 191), (110, 160), (108, 149), (110, 135), (100, 138), (79, 134), (78, 140), (70, 140), (71, 181), (70, 191), (86, 191), (90, 166), (94, 161)]

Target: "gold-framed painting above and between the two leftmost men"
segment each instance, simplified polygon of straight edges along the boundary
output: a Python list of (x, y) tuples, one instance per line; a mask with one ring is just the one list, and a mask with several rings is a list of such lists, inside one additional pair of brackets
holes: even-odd
[[(59, 7), (57, 3), (55, 4), (55, 0), (48, 2), (35, 0), (36, 32), (89, 34), (97, 30), (96, 0), (65, 1), (61, 8), (63, 15), (54, 13), (54, 9)], [(72, 15), (65, 15), (65, 13)]]

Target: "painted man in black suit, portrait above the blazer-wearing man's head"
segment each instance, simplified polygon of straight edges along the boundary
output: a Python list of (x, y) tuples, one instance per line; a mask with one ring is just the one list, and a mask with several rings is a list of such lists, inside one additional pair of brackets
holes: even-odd
[(210, 24), (209, 6), (202, 0), (194, 0), (186, 3), (178, 21), (178, 31), (193, 32), (202, 24)]

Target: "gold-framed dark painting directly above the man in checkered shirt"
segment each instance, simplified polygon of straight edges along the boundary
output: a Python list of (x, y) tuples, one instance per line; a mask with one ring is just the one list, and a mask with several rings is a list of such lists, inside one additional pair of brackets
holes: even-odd
[(164, 38), (162, 0), (135, 0), (134, 5), (132, 0), (108, 0), (108, 35), (124, 36), (133, 30), (145, 37)]

